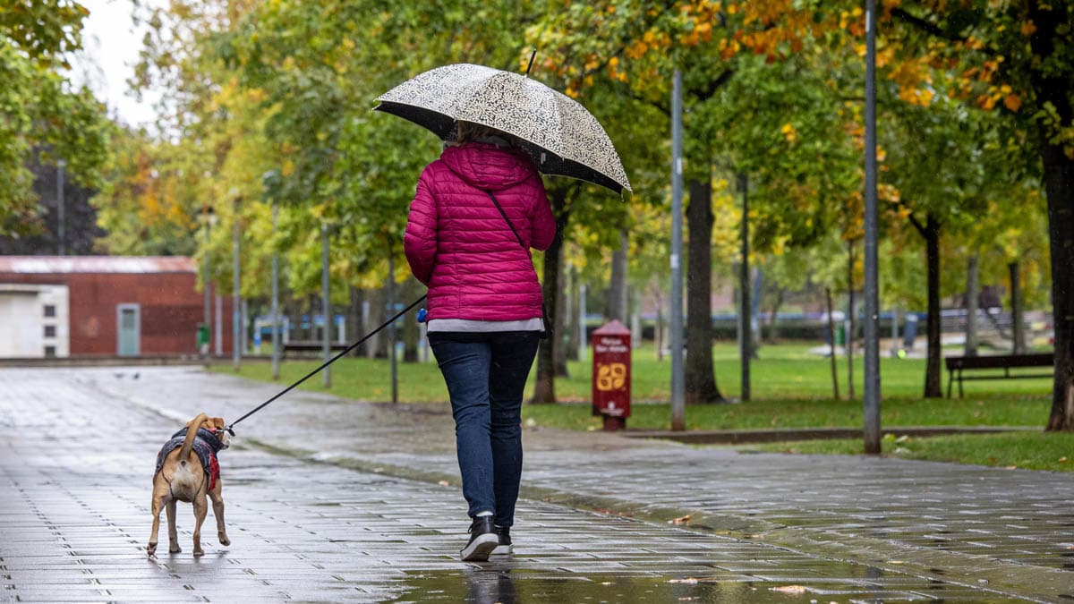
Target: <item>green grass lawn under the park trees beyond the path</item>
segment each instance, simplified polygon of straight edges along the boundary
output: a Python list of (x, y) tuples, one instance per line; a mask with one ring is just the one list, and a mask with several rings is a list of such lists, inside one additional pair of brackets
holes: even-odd
[[(748, 403), (699, 405), (686, 408), (691, 430), (764, 428), (859, 428), (862, 425), (860, 402), (862, 366), (856, 359), (853, 401), (834, 400), (831, 365), (811, 349), (819, 344), (781, 344), (764, 346), (751, 363), (753, 400)], [(713, 347), (716, 379), (723, 394), (739, 396), (738, 349), (734, 344)], [(846, 359), (837, 359), (840, 394), (846, 398)], [(570, 430), (594, 430), (599, 418), (591, 415), (592, 361), (570, 362), (569, 377), (556, 378), (558, 405), (523, 406), (528, 426)], [(280, 388), (320, 364), (319, 361), (281, 363)], [(632, 429), (664, 430), (670, 427), (670, 359), (658, 361), (651, 345), (634, 353), (634, 407), (627, 426)], [(230, 363), (214, 368), (231, 373)], [(268, 382), (272, 366), (266, 362), (245, 362), (240, 375)], [(943, 386), (946, 389), (946, 372)], [(890, 426), (1014, 426), (1043, 427), (1050, 407), (1051, 379), (1006, 379), (970, 382), (964, 399), (921, 399), (925, 382), (924, 359), (881, 359), (882, 422)], [(316, 375), (302, 388), (323, 391), (322, 377)], [(533, 389), (531, 376), (527, 397)], [(340, 359), (332, 365), (330, 392), (339, 397), (365, 400), (391, 400), (391, 365), (386, 359)], [(434, 362), (398, 363), (398, 400), (409, 403), (446, 404), (447, 389)], [(817, 441), (751, 446), (755, 450), (794, 450), (800, 452), (860, 451), (860, 441)], [(912, 459), (935, 459), (1069, 470), (1058, 461), (1070, 452), (1074, 459), (1074, 435), (1026, 432), (1002, 435), (937, 436), (913, 438), (896, 446), (885, 443), (886, 451)]]

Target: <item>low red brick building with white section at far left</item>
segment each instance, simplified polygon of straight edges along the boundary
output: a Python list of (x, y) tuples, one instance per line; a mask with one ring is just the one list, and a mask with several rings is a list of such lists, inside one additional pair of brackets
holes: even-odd
[[(0, 357), (194, 356), (197, 285), (191, 258), (0, 256)], [(211, 306), (230, 354), (231, 298)]]

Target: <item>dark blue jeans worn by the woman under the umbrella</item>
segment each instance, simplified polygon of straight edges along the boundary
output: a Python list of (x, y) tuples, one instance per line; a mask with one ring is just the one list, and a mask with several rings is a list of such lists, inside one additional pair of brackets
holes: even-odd
[(539, 332), (433, 332), (455, 418), (455, 448), (469, 516), (492, 512), (514, 523), (522, 477), (522, 391), (537, 355)]

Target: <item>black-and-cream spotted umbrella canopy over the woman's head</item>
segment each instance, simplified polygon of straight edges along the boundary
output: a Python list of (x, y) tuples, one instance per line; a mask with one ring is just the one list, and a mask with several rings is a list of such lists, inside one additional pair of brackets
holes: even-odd
[(503, 130), (525, 143), (541, 172), (621, 192), (630, 189), (604, 128), (574, 99), (525, 75), (458, 63), (426, 71), (381, 95), (375, 109), (449, 138), (455, 120)]

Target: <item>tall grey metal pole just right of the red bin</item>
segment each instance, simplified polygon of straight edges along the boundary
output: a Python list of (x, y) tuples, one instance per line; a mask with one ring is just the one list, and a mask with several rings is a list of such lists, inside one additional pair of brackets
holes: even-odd
[(686, 429), (682, 358), (682, 72), (671, 87), (671, 430)]

